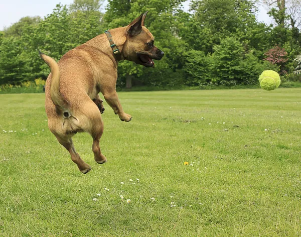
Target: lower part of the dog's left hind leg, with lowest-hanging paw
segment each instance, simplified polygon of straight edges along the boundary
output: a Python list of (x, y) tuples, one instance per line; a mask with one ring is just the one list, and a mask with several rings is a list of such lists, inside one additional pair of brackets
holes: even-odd
[(67, 151), (70, 153), (71, 155), (71, 160), (77, 164), (80, 172), (86, 174), (88, 173), (90, 170), (91, 170), (91, 166), (89, 166), (86, 162), (84, 162), (79, 154), (75, 151), (75, 148), (74, 148), (74, 144), (73, 144), (73, 141), (71, 138), (60, 138), (60, 137), (57, 137), (58, 141), (60, 144), (62, 144), (66, 149)]

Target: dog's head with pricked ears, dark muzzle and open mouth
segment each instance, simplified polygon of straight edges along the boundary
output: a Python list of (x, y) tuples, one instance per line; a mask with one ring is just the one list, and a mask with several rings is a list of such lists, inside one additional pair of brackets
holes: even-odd
[(122, 51), (126, 60), (153, 67), (153, 59), (161, 60), (164, 52), (154, 45), (154, 36), (144, 27), (146, 15), (147, 12), (141, 14), (125, 28), (126, 42)]

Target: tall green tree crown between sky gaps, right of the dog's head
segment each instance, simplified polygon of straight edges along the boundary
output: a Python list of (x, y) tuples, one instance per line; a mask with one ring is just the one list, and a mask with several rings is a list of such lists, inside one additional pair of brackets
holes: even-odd
[[(268, 42), (269, 29), (256, 21), (258, 9), (252, 1), (193, 0), (190, 10), (193, 15), (182, 37), (189, 39), (190, 45), (196, 50), (212, 53), (213, 46), (226, 37), (238, 38), (258, 50)], [(262, 44), (258, 44), (258, 40)]]

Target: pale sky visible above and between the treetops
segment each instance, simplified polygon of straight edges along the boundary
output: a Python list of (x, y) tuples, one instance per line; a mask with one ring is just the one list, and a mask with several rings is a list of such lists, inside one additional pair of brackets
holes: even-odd
[[(0, 0), (0, 30), (18, 22), (22, 17), (45, 17), (52, 13), (56, 4), (70, 5), (72, 2), (73, 0)], [(184, 10), (186, 11), (189, 9), (189, 2), (190, 0), (184, 3)], [(105, 5), (106, 1), (104, 2), (102, 12), (104, 12)], [(263, 7), (260, 7), (259, 11), (258, 20), (266, 24), (271, 24), (272, 20), (267, 15), (267, 11)]]

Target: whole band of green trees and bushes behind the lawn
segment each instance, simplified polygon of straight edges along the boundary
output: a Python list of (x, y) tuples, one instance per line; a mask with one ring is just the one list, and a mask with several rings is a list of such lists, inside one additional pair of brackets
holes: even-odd
[(183, 2), (109, 0), (103, 14), (101, 0), (74, 0), (69, 7), (57, 5), (44, 19), (22, 18), (0, 32), (0, 84), (46, 79), (49, 68), (38, 49), (59, 60), (70, 49), (106, 29), (126, 26), (145, 11), (145, 26), (165, 57), (154, 68), (120, 62), (119, 88), (127, 79), (134, 86), (250, 85), (264, 69), (291, 74), (297, 67), (297, 12), (285, 12), (283, 25), (274, 6), (270, 14), (279, 24), (267, 26), (256, 20), (258, 10), (251, 0), (192, 0), (189, 13), (183, 11)]

